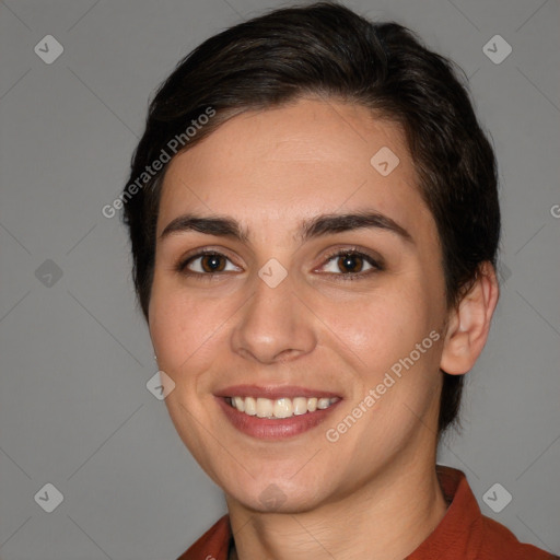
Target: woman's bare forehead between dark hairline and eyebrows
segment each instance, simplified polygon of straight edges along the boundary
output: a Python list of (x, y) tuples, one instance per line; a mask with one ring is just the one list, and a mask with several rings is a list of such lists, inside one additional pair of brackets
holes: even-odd
[(300, 100), (233, 117), (176, 155), (158, 231), (192, 211), (289, 230), (318, 213), (364, 207), (411, 229), (422, 220), (429, 226), (417, 185), (397, 125), (355, 104)]

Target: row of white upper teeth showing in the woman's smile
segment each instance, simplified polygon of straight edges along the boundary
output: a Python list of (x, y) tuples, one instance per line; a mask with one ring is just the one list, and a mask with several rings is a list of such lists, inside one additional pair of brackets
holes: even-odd
[(231, 397), (230, 401), (233, 408), (248, 416), (258, 418), (291, 418), (307, 412), (315, 412), (317, 409), (324, 410), (339, 400), (335, 398), (317, 397), (295, 397), (279, 398), (271, 400), (269, 398), (253, 397)]

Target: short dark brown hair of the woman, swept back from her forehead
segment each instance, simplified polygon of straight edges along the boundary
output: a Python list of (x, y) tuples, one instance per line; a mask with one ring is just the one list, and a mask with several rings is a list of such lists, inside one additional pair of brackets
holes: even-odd
[[(182, 151), (188, 150), (236, 114), (308, 95), (363, 105), (402, 127), (418, 187), (438, 226), (448, 306), (460, 301), (483, 261), (495, 267), (495, 158), (453, 62), (397, 23), (373, 23), (337, 3), (318, 2), (276, 10), (210, 37), (178, 63), (151, 102), (124, 205), (147, 318), (166, 165), (150, 175), (147, 166), (173, 138), (183, 135)], [(185, 138), (208, 107), (215, 116)], [(144, 184), (130, 196), (142, 174)], [(457, 417), (464, 378), (442, 375), (440, 433)]]

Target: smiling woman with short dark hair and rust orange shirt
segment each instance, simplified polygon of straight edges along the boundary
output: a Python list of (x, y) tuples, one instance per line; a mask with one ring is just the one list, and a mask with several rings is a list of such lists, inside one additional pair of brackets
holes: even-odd
[(229, 510), (182, 559), (551, 558), (435, 464), (499, 296), (451, 62), (337, 4), (236, 25), (159, 90), (122, 201), (171, 418)]

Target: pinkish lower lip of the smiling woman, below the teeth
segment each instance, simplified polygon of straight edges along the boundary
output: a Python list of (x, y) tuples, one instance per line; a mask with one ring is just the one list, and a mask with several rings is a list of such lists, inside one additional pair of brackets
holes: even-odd
[(341, 402), (341, 400), (337, 400), (328, 408), (317, 409), (315, 412), (306, 412), (305, 415), (292, 416), (290, 418), (269, 419), (240, 412), (236, 408), (229, 405), (224, 398), (215, 398), (234, 428), (259, 440), (285, 440), (287, 438), (293, 438), (294, 435), (307, 432), (320, 424), (337, 405)]

